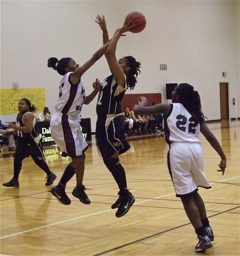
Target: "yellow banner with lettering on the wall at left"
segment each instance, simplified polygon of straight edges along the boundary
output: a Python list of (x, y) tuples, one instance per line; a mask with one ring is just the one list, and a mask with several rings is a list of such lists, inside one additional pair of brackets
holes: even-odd
[(0, 115), (19, 113), (19, 100), (27, 98), (35, 105), (36, 112), (45, 107), (45, 88), (0, 89)]

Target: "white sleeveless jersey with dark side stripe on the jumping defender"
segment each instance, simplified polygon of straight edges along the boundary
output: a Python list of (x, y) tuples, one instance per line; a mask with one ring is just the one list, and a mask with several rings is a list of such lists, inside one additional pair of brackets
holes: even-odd
[(73, 72), (68, 72), (60, 81), (58, 101), (54, 105), (54, 109), (58, 113), (68, 116), (79, 116), (86, 99), (86, 92), (83, 83), (80, 81), (78, 85), (72, 85), (69, 77)]

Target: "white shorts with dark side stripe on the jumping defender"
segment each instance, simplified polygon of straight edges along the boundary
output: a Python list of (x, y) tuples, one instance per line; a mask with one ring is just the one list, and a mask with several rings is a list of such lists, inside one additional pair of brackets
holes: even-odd
[(51, 136), (61, 152), (70, 157), (83, 156), (88, 144), (81, 132), (80, 118), (54, 113), (50, 122)]

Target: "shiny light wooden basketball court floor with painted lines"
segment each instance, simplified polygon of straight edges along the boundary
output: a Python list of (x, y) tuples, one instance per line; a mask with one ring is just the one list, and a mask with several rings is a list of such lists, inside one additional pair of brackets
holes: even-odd
[[(227, 170), (216, 172), (220, 157), (202, 138), (205, 173), (212, 189), (200, 189), (215, 240), (206, 255), (239, 255), (240, 121), (208, 124), (227, 155)], [(118, 198), (111, 173), (102, 162), (93, 137), (86, 152), (84, 184), (92, 204), (72, 196), (60, 204), (45, 186), (45, 173), (25, 159), (20, 188), (1, 186), (1, 255), (195, 255), (196, 234), (168, 174), (168, 147), (161, 135), (129, 138), (131, 150), (120, 157), (128, 187), (136, 197), (130, 211), (115, 217)], [(52, 172), (60, 180), (69, 159), (58, 148), (45, 148)], [(13, 158), (3, 148), (1, 183), (12, 178)]]

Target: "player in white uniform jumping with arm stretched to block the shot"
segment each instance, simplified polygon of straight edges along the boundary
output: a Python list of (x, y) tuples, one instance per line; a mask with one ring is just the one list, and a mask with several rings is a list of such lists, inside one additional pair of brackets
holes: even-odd
[(68, 156), (72, 158), (72, 162), (68, 164), (67, 168), (60, 179), (57, 186), (51, 189), (54, 195), (61, 204), (68, 205), (71, 203), (68, 198), (65, 188), (67, 182), (72, 179), (76, 173), (77, 185), (72, 191), (72, 195), (79, 198), (83, 204), (90, 204), (90, 199), (85, 193), (85, 186), (83, 185), (84, 176), (84, 151), (88, 145), (81, 132), (80, 113), (83, 104), (90, 104), (94, 97), (100, 90), (99, 80), (93, 83), (93, 92), (86, 96), (81, 77), (84, 72), (102, 57), (108, 47), (109, 42), (103, 45), (90, 60), (86, 61), (84, 65), (79, 65), (72, 58), (49, 58), (47, 66), (54, 68), (63, 76), (60, 81), (60, 90), (58, 101), (54, 108), (56, 113), (51, 118), (51, 135), (56, 144), (60, 147), (61, 152), (67, 152)]

